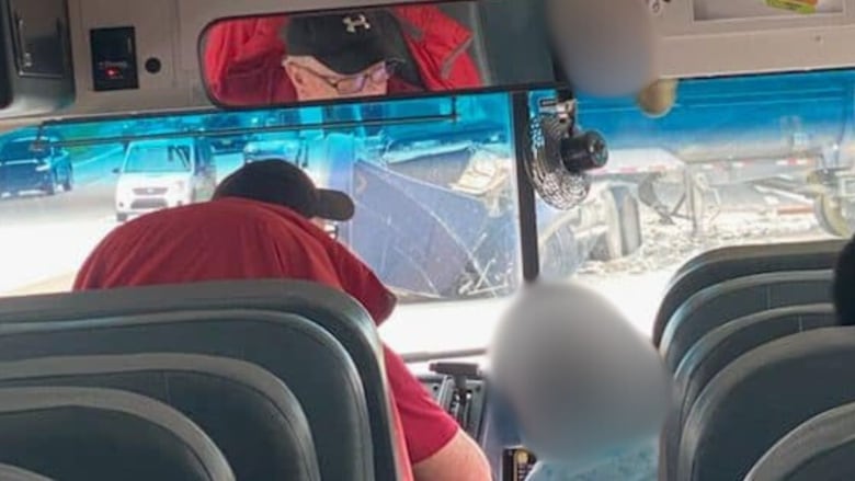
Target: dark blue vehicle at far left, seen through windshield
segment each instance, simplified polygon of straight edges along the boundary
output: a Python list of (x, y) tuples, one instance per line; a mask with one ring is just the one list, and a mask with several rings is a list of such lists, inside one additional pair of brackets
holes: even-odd
[[(37, 142), (36, 142), (37, 140)], [(54, 137), (19, 137), (0, 147), (0, 195), (41, 191), (47, 195), (75, 184), (71, 158)]]

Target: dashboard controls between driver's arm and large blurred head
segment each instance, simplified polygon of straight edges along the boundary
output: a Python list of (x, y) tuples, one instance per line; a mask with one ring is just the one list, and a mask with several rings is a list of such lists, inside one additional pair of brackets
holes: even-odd
[(433, 363), (422, 382), (433, 399), (476, 439), (490, 461), (494, 479), (523, 481), (537, 461), (522, 446), (516, 421), (489, 387), (478, 365)]

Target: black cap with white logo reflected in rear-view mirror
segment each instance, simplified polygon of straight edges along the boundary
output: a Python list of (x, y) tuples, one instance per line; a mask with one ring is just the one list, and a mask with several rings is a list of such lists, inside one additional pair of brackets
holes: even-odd
[(288, 55), (315, 57), (330, 70), (351, 76), (389, 59), (384, 32), (395, 21), (383, 10), (298, 14), (284, 31)]

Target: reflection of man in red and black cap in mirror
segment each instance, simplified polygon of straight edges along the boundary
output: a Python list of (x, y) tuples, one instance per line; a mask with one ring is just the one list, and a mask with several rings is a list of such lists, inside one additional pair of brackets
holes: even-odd
[(227, 105), (481, 87), (472, 35), (434, 5), (240, 19), (206, 37), (205, 76)]

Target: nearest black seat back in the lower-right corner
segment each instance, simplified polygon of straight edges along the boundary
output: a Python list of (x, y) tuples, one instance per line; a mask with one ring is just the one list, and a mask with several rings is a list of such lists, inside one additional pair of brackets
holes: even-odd
[(754, 465), (745, 481), (855, 479), (855, 404), (803, 422)]

